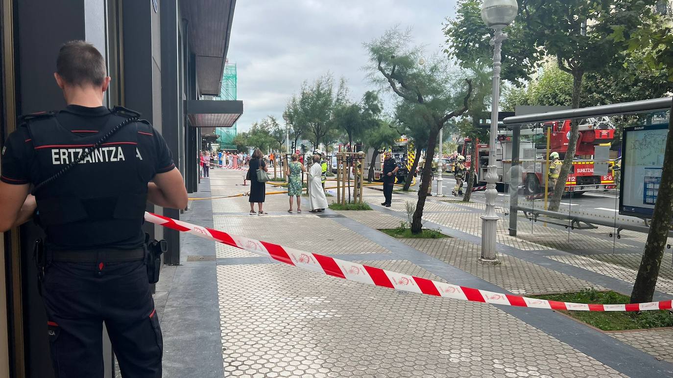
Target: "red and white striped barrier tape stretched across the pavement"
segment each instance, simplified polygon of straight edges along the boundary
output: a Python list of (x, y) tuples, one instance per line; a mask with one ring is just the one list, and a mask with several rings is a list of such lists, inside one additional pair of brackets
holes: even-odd
[(347, 279), (350, 281), (357, 281), (360, 283), (367, 283), (369, 285), (376, 285), (381, 287), (388, 287), (390, 289), (411, 291), (412, 293), (435, 295), (438, 297), (448, 297), (453, 299), (461, 299), (464, 301), (475, 301), (493, 303), (498, 305), (514, 305), (520, 307), (530, 308), (546, 308), (552, 310), (574, 310), (574, 311), (645, 311), (645, 310), (670, 310), (672, 303), (668, 301), (647, 302), (647, 303), (631, 303), (631, 304), (586, 304), (586, 303), (571, 303), (560, 301), (548, 301), (546, 299), (537, 299), (522, 297), (519, 295), (510, 295), (504, 293), (495, 293), (493, 291), (486, 291), (474, 289), (472, 287), (464, 287), (458, 285), (451, 285), (450, 283), (443, 283), (431, 281), (420, 277), (405, 275), (386, 271), (385, 269), (369, 267), (352, 263), (351, 261), (339, 260), (330, 256), (322, 254), (304, 252), (294, 248), (287, 248), (279, 244), (269, 242), (262, 242), (228, 234), (212, 228), (196, 226), (180, 220), (160, 216), (157, 214), (145, 212), (145, 220), (153, 224), (172, 228), (182, 232), (188, 232), (201, 238), (215, 240), (229, 246), (234, 246), (248, 252), (259, 254), (260, 256), (273, 258), (287, 265), (294, 265), (308, 271), (315, 271), (324, 273), (326, 275)]

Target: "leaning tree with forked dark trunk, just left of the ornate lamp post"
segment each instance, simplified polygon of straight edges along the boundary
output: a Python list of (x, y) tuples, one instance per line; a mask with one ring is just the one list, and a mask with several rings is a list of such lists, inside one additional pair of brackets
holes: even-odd
[[(467, 109), (472, 95), (472, 81), (464, 73), (451, 69), (445, 59), (433, 57), (425, 64), (420, 48), (410, 48), (409, 32), (397, 29), (386, 32), (365, 47), (369, 52), (369, 77), (389, 87), (401, 101), (413, 104), (414, 113), (421, 115), (419, 124), (429, 126), (426, 156), (435, 154), (439, 130)], [(411, 232), (421, 232), (421, 217), (431, 179), (431, 164), (425, 164), (416, 203)]]

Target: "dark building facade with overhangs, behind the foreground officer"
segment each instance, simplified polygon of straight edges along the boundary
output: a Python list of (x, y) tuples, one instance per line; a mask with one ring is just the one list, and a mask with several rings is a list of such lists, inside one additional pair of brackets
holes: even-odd
[[(220, 93), (236, 0), (0, 1), (0, 147), (17, 115), (65, 106), (52, 76), (56, 56), (64, 42), (87, 40), (108, 62), (106, 105), (149, 120), (188, 191), (197, 191), (201, 130), (232, 126), (242, 113), (241, 101), (205, 100)], [(147, 211), (176, 219), (182, 212), (153, 205)], [(178, 233), (145, 227), (168, 240), (165, 263), (179, 264)], [(40, 236), (32, 222), (0, 234), (0, 377), (53, 376), (32, 261), (32, 241)], [(112, 376), (109, 342), (104, 357)]]

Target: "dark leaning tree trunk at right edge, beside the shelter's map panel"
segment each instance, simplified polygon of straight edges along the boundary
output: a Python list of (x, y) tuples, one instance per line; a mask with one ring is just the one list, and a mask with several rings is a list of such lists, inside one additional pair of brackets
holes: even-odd
[[(673, 112), (673, 104), (671, 106)], [(662, 181), (659, 184), (657, 202), (654, 205), (652, 221), (649, 224), (649, 234), (643, 250), (638, 275), (631, 292), (631, 303), (651, 302), (654, 295), (654, 286), (662, 265), (664, 248), (671, 228), (673, 218), (673, 124), (668, 124), (668, 137), (664, 151), (664, 167), (662, 167)]]

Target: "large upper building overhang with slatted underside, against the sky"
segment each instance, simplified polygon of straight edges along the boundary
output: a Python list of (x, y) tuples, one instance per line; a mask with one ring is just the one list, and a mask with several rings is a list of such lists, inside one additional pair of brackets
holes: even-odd
[(197, 82), (201, 95), (219, 95), (236, 0), (180, 1), (188, 19), (189, 46), (196, 56)]

